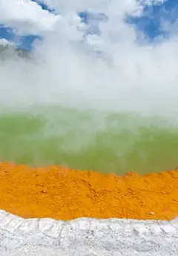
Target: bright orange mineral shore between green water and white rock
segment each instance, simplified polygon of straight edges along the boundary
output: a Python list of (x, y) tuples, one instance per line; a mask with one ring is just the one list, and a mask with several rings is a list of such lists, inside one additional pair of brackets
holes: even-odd
[(0, 209), (25, 218), (178, 217), (178, 170), (119, 177), (59, 166), (0, 163), (0, 193)]

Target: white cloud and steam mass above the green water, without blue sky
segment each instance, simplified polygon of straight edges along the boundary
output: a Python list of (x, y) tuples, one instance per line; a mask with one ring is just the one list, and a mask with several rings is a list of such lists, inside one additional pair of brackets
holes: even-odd
[[(0, 14), (1, 22), (27, 32), (41, 31), (44, 41), (35, 50), (36, 56), (42, 56), (45, 62), (38, 59), (39, 65), (21, 62), (14, 68), (12, 62), (1, 67), (4, 82), (0, 99), (3, 95), (6, 102), (60, 102), (177, 118), (177, 37), (156, 45), (139, 45), (137, 31), (125, 23), (125, 13), (141, 15), (138, 1), (46, 0), (49, 7), (60, 13), (57, 17), (35, 3), (22, 2), (25, 7), (19, 7), (14, 0), (2, 1), (1, 14), (5, 14), (4, 19)], [(85, 44), (82, 37), (87, 27), (82, 27), (76, 13), (82, 10), (108, 16), (107, 22), (99, 24), (101, 34), (88, 36)], [(88, 55), (93, 48), (102, 50), (105, 58)], [(9, 77), (10, 69), (16, 72)], [(12, 83), (16, 96), (9, 93)]]

